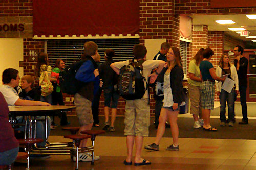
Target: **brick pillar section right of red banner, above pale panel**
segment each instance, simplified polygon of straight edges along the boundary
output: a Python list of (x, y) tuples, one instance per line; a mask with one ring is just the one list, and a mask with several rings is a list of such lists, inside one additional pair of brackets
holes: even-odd
[(174, 3), (169, 0), (140, 0), (140, 42), (166, 38), (179, 46), (179, 17), (174, 16)]

